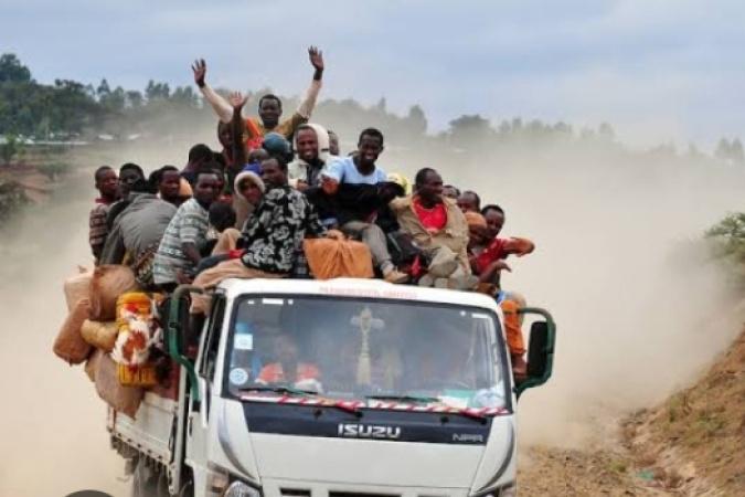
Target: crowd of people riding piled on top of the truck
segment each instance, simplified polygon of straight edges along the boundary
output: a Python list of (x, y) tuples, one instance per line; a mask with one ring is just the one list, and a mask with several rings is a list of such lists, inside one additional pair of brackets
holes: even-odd
[[(433, 168), (421, 169), (413, 183), (384, 171), (379, 129), (363, 129), (356, 149), (342, 156), (339, 137), (310, 121), (323, 57), (316, 47), (308, 54), (310, 87), (285, 119), (275, 95), (259, 99), (258, 116), (245, 117), (246, 98), (215, 93), (206, 63), (195, 62), (194, 82), (217, 115), (223, 148), (194, 145), (183, 168), (163, 166), (149, 176), (135, 163), (99, 167), (89, 219), (96, 264), (128, 265), (143, 289), (170, 293), (179, 284), (210, 288), (228, 277), (312, 277), (304, 240), (358, 240), (386, 282), (498, 298), (513, 368), (524, 373), (517, 313), (524, 299), (503, 292), (499, 276), (511, 271), (509, 255), (529, 254), (533, 243), (500, 237), (502, 208), (481, 207), (477, 192), (444, 184)], [(205, 313), (209, 304), (194, 296), (192, 313)]]

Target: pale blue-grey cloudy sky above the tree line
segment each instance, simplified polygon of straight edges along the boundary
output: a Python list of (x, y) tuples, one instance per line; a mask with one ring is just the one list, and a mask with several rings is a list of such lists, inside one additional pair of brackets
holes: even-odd
[(424, 107), (430, 129), (461, 114), (577, 127), (627, 142), (745, 137), (742, 0), (0, 0), (0, 50), (34, 77), (142, 88), (149, 78), (305, 91), (309, 44), (322, 97)]

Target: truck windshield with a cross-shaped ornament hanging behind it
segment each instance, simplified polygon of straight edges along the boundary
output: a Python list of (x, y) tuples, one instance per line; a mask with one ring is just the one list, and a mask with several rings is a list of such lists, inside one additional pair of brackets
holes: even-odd
[(455, 409), (501, 409), (501, 332), (487, 309), (339, 297), (237, 300), (228, 392)]

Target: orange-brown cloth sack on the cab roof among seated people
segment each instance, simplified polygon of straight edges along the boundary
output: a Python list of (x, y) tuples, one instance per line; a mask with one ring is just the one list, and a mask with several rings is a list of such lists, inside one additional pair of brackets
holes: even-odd
[(373, 277), (370, 248), (362, 242), (340, 239), (306, 239), (302, 250), (316, 279)]

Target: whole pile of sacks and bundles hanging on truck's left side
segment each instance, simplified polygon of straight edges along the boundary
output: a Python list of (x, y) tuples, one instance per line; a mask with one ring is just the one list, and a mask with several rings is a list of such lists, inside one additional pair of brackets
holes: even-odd
[[(127, 266), (81, 271), (64, 285), (70, 314), (54, 353), (70, 364), (85, 362), (98, 395), (131, 417), (145, 390), (167, 381), (156, 362), (162, 353), (158, 305), (162, 295), (140, 292)], [(162, 361), (160, 361), (162, 363)]]

